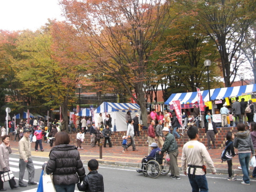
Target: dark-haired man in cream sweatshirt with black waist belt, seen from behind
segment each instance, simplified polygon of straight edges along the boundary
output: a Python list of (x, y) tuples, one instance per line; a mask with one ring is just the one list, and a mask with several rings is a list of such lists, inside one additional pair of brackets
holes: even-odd
[[(208, 192), (208, 184), (205, 177), (206, 167), (204, 162), (211, 169), (211, 173), (215, 174), (216, 169), (214, 162), (212, 162), (208, 151), (203, 143), (198, 141), (199, 134), (196, 126), (191, 126), (187, 135), (190, 138), (182, 150), (182, 170), (184, 175), (188, 175), (188, 179), (193, 191), (205, 191)], [(187, 166), (186, 166), (187, 165)]]

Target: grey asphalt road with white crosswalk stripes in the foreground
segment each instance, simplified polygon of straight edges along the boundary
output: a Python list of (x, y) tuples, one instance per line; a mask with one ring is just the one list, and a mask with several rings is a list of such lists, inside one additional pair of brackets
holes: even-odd
[[(48, 158), (32, 158), (35, 165), (35, 181), (39, 181), (41, 173), (41, 164), (48, 160)], [(11, 170), (14, 172), (15, 178), (18, 178), (18, 156), (10, 155), (10, 166)], [(88, 168), (84, 165), (86, 173), (88, 174)], [(152, 179), (149, 177), (143, 177), (142, 174), (136, 172), (135, 167), (125, 167), (116, 165), (100, 165), (99, 173), (103, 175), (104, 178), (104, 188), (105, 191), (140, 191), (140, 192), (150, 192), (150, 191), (191, 191), (191, 187), (188, 178), (181, 175), (180, 180), (172, 180), (168, 176), (159, 176), (157, 179)], [(28, 179), (28, 172), (25, 173), (25, 180)], [(227, 181), (226, 175), (211, 175), (207, 174), (207, 181), (209, 186), (209, 191), (232, 191), (232, 192), (254, 192), (256, 186), (256, 180), (251, 180), (251, 185), (242, 185), (242, 177), (238, 177), (238, 181)], [(18, 181), (18, 180), (16, 180)], [(25, 182), (26, 183), (26, 182)], [(5, 188), (11, 190), (8, 183), (5, 183)], [(19, 187), (11, 191), (36, 191), (37, 186), (27, 186)], [(77, 190), (77, 188), (76, 188)], [(50, 192), (50, 191), (49, 191)]]

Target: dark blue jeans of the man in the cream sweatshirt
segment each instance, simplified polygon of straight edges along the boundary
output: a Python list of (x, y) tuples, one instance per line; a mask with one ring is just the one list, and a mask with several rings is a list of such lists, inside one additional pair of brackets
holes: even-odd
[(190, 185), (192, 187), (192, 192), (208, 192), (208, 183), (205, 175), (195, 175), (193, 178), (193, 174), (188, 177)]

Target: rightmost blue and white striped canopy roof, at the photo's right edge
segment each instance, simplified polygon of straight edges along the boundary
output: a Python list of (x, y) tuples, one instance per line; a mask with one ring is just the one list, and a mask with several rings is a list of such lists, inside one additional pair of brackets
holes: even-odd
[(218, 88), (215, 89), (214, 94), (211, 96), (211, 100), (225, 99), (226, 97), (239, 97), (243, 95), (250, 95), (256, 92), (256, 84), (248, 84), (247, 86), (237, 86), (230, 88)]

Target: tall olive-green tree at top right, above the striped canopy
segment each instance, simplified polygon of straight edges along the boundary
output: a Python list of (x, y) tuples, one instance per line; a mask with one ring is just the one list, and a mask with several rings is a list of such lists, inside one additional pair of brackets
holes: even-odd
[(220, 55), (225, 87), (230, 87), (241, 66), (241, 45), (248, 27), (255, 22), (255, 0), (181, 1), (198, 14), (206, 35), (214, 42)]

